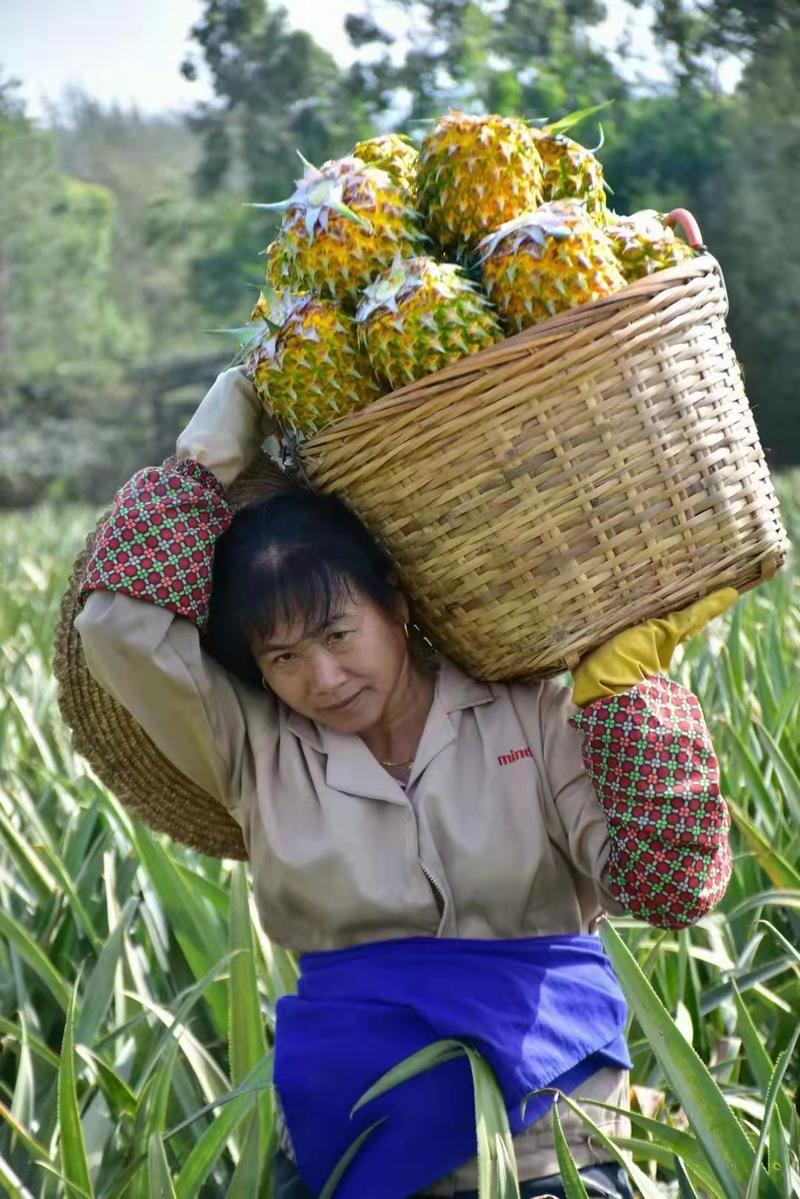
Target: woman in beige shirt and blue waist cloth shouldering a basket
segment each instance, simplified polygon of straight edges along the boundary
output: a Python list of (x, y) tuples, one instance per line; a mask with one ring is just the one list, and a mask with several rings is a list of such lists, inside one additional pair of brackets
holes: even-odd
[[(343, 1199), (474, 1195), (463, 1055), (351, 1115), (451, 1037), (494, 1068), (521, 1193), (563, 1195), (551, 1097), (530, 1092), (627, 1105), (597, 920), (685, 927), (727, 886), (716, 759), (661, 671), (735, 592), (613, 639), (576, 670), (575, 701), (479, 682), (422, 652), (391, 561), (342, 505), (294, 492), (233, 514), (224, 487), (261, 434), (253, 388), (224, 372), (178, 463), (120, 490), (77, 627), (100, 683), (241, 825), (261, 923), (302, 954), (277, 1013), (277, 1194), (319, 1193), (363, 1133)], [(561, 1120), (589, 1194), (630, 1197)]]

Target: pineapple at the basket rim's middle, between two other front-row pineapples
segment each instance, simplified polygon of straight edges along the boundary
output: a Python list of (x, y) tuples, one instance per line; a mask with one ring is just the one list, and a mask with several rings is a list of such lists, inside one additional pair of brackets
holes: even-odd
[(392, 390), (503, 336), (463, 271), (432, 258), (397, 259), (366, 288), (355, 319), (375, 375)]

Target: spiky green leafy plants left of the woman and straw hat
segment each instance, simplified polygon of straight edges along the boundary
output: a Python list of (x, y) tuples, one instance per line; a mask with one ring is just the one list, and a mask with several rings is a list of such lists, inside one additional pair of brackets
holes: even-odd
[(246, 1159), (253, 1195), (272, 1126), (267, 1030), (290, 970), (264, 953), (241, 868), (133, 825), (55, 716), (58, 604), (96, 517), (43, 507), (0, 523), (13, 579), (0, 600), (0, 1180), (37, 1199), (172, 1186), (188, 1199), (205, 1182), (225, 1193)]

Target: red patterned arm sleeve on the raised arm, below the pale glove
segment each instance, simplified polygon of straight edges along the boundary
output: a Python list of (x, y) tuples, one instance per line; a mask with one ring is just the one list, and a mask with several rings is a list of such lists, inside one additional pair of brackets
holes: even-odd
[(201, 463), (145, 466), (118, 492), (82, 594), (120, 591), (186, 616), (204, 632), (213, 547), (231, 517), (222, 483)]

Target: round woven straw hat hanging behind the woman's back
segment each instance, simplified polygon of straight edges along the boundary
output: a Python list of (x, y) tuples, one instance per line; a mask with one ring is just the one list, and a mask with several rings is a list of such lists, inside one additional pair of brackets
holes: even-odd
[[(237, 510), (289, 486), (276, 463), (263, 453), (231, 483), (227, 499)], [(72, 729), (76, 749), (140, 820), (213, 857), (245, 858), (241, 829), (228, 812), (164, 758), (142, 725), (86, 669), (73, 621), (86, 560), (104, 519), (78, 554), (61, 601), (53, 658), (61, 715)]]

